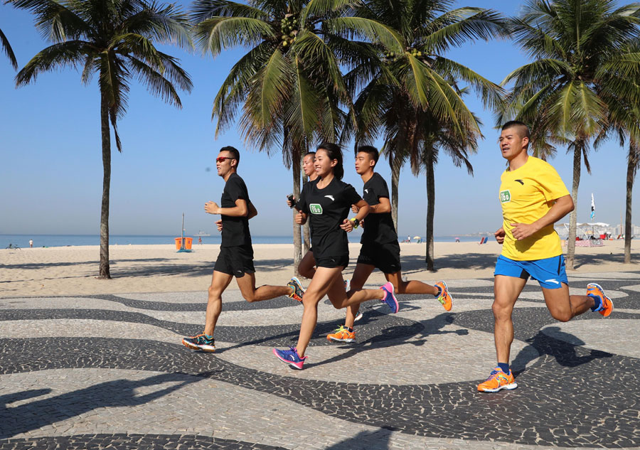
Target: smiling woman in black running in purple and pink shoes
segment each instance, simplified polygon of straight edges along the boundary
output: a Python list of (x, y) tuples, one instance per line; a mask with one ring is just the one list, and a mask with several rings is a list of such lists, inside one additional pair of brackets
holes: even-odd
[[(304, 313), (296, 347), (289, 350), (273, 349), (273, 353), (285, 363), (302, 369), (304, 351), (318, 320), (318, 303), (325, 294), (337, 309), (379, 299), (388, 304), (391, 312), (398, 312), (398, 300), (393, 295), (393, 284), (380, 289), (352, 290), (347, 296), (342, 271), (349, 264), (349, 248), (346, 233), (357, 227), (369, 211), (369, 205), (360, 198), (353, 186), (343, 183), (342, 152), (336, 144), (321, 144), (314, 162), (318, 178), (306, 183), (296, 204), (299, 214), (296, 223), (304, 225), (307, 218), (311, 227), (316, 272), (302, 298)], [(358, 214), (347, 220), (349, 208), (356, 205)]]

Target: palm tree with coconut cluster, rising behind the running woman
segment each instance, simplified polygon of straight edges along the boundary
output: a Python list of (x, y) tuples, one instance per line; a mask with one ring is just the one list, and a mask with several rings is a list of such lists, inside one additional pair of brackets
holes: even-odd
[[(301, 161), (317, 141), (336, 141), (350, 120), (351, 97), (341, 65), (361, 60), (352, 33), (398, 49), (393, 31), (367, 18), (348, 16), (346, 0), (196, 0), (196, 41), (214, 57), (226, 48), (250, 50), (238, 60), (215, 96), (216, 136), (235, 123), (257, 149), (282, 151), (300, 192)], [(351, 115), (353, 121), (353, 115)], [(293, 224), (294, 264), (302, 257), (299, 225)]]

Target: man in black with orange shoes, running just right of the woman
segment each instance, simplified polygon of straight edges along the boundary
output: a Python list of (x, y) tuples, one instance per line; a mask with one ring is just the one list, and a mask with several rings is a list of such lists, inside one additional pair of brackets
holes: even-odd
[[(444, 309), (451, 310), (452, 298), (445, 282), (437, 282), (435, 286), (418, 281), (402, 279), (400, 266), (400, 244), (391, 218), (389, 188), (380, 173), (374, 171), (378, 163), (378, 149), (365, 145), (358, 147), (356, 154), (356, 173), (364, 183), (363, 198), (369, 205), (369, 214), (362, 222), (364, 231), (360, 243), (360, 256), (356, 269), (351, 277), (350, 291), (362, 289), (370, 274), (376, 269), (385, 274), (388, 282), (393, 284), (396, 294), (430, 294), (434, 296)], [(353, 205), (353, 213), (358, 213), (358, 206)], [(326, 336), (329, 341), (353, 342), (356, 332), (353, 330), (359, 304), (347, 308), (344, 326)]]

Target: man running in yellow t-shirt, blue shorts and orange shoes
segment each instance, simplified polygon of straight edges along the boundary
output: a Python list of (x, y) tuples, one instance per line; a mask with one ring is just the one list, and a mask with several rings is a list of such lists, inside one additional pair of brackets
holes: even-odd
[(529, 277), (540, 284), (547, 309), (558, 321), (569, 321), (588, 309), (604, 317), (613, 311), (611, 299), (598, 284), (587, 284), (586, 295), (569, 294), (560, 237), (553, 224), (573, 210), (573, 200), (555, 168), (527, 154), (529, 136), (526, 124), (513, 121), (504, 124), (499, 139), (508, 168), (502, 173), (498, 195), (503, 224), (494, 233), (502, 244), (492, 306), (498, 366), (478, 386), (481, 392), (518, 387), (509, 367), (511, 313)]

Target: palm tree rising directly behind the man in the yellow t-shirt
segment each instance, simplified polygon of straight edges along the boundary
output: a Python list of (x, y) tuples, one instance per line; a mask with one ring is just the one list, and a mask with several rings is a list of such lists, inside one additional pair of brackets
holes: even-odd
[[(609, 126), (611, 93), (629, 95), (628, 80), (617, 80), (606, 68), (639, 37), (639, 16), (640, 4), (617, 7), (614, 0), (530, 0), (512, 21), (513, 37), (533, 63), (503, 81), (513, 82), (513, 89), (506, 102), (510, 107), (498, 120), (510, 116), (537, 122), (556, 139), (570, 142), (576, 205), (582, 161), (590, 171), (590, 145)], [(569, 269), (574, 267), (576, 220), (577, 208), (570, 215)]]

